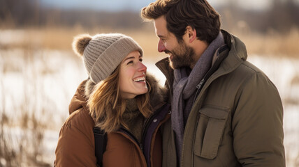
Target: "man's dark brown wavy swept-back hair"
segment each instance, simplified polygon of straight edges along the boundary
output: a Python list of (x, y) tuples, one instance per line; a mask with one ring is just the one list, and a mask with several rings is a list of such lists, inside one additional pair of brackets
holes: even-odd
[(141, 10), (145, 21), (164, 15), (167, 29), (182, 40), (186, 27), (196, 29), (196, 37), (210, 44), (220, 31), (219, 13), (206, 0), (157, 0)]

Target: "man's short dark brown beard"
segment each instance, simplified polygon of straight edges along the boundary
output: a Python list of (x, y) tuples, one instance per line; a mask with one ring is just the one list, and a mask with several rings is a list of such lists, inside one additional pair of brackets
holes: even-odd
[(164, 52), (173, 56), (172, 60), (169, 58), (170, 67), (173, 69), (190, 67), (194, 63), (194, 49), (187, 47), (183, 41), (179, 41), (179, 47), (173, 51), (166, 50)]

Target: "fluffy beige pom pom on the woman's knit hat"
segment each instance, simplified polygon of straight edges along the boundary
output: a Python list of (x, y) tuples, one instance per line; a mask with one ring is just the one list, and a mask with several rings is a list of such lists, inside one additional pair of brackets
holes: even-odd
[(91, 40), (92, 36), (89, 34), (75, 36), (73, 40), (73, 51), (75, 51), (75, 54), (83, 56), (84, 50)]

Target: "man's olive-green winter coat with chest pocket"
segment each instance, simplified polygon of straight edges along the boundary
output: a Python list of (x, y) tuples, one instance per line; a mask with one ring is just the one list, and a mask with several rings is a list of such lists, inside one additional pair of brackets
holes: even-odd
[[(180, 167), (283, 167), (283, 108), (277, 88), (246, 61), (242, 41), (221, 32), (229, 49), (219, 51), (224, 60), (192, 106), (179, 160), (171, 121), (163, 125), (163, 167), (175, 167), (177, 161)], [(167, 59), (156, 65), (166, 75), (171, 97), (173, 70)]]

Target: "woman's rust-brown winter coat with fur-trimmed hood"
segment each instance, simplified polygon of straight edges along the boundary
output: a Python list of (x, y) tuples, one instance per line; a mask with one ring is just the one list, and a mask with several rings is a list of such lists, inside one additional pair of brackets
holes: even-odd
[[(157, 81), (153, 77), (147, 76), (147, 81), (151, 84), (152, 90), (150, 93), (151, 104), (154, 109), (163, 106), (165, 102), (165, 91), (159, 88)], [(55, 151), (56, 160), (54, 166), (88, 166), (96, 167), (96, 157), (94, 149), (94, 133), (95, 126), (93, 118), (89, 115), (89, 108), (87, 107), (87, 97), (90, 93), (90, 86), (87, 86), (88, 81), (83, 81), (78, 87), (71, 104), (69, 105), (70, 116), (67, 118), (64, 125), (61, 127), (59, 134), (59, 141)], [(129, 106), (130, 107), (130, 106)], [(155, 129), (152, 136), (151, 149), (151, 166), (161, 166), (161, 132), (159, 127), (166, 118), (159, 123), (158, 128)], [(145, 156), (140, 148), (139, 143), (136, 143), (130, 136), (123, 132), (108, 133), (108, 141), (106, 150), (103, 153), (103, 166), (147, 166)]]

